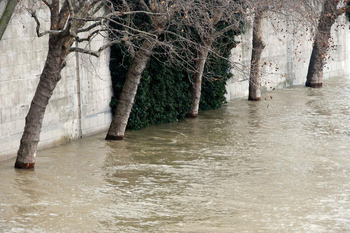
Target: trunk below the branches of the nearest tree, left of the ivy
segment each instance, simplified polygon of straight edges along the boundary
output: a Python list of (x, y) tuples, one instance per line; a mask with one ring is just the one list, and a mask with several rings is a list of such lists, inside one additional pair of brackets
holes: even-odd
[(15, 168), (33, 168), (44, 113), (57, 82), (61, 79), (66, 54), (62, 57), (62, 43), (49, 39), (49, 51), (36, 92), (26, 116), (26, 125), (17, 152)]

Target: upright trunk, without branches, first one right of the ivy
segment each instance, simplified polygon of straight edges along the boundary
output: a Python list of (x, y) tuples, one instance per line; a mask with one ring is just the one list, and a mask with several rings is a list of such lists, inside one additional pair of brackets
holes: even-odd
[(260, 82), (261, 82), (261, 53), (265, 48), (262, 37), (262, 20), (264, 19), (265, 10), (257, 10), (254, 16), (253, 24), (253, 49), (249, 77), (249, 96), (248, 100), (259, 101), (261, 99)]

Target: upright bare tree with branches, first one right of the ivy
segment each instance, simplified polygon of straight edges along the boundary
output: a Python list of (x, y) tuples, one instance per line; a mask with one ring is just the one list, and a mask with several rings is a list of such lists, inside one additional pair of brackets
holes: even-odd
[[(299, 0), (288, 2), (280, 0), (257, 1), (254, 8), (247, 11), (254, 14), (248, 100), (259, 101), (261, 99), (262, 75), (270, 74), (268, 71), (261, 70), (263, 67), (261, 55), (266, 46), (263, 35), (263, 20), (265, 19), (272, 26), (273, 36), (279, 38), (280, 32), (286, 31), (295, 42), (298, 39), (296, 31), (314, 28), (315, 4), (313, 0), (303, 2)], [(282, 26), (279, 24), (280, 21)], [(284, 43), (283, 38), (279, 38), (279, 40)], [(268, 62), (265, 62), (265, 65), (267, 64)]]

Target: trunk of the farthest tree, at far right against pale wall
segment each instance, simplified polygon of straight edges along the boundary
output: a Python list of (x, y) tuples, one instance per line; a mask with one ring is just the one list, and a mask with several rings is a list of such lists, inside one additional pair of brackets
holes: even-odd
[(334, 12), (336, 12), (338, 2), (336, 0), (323, 3), (306, 77), (305, 86), (307, 87), (322, 87), (324, 59), (328, 49), (330, 29), (337, 18)]

